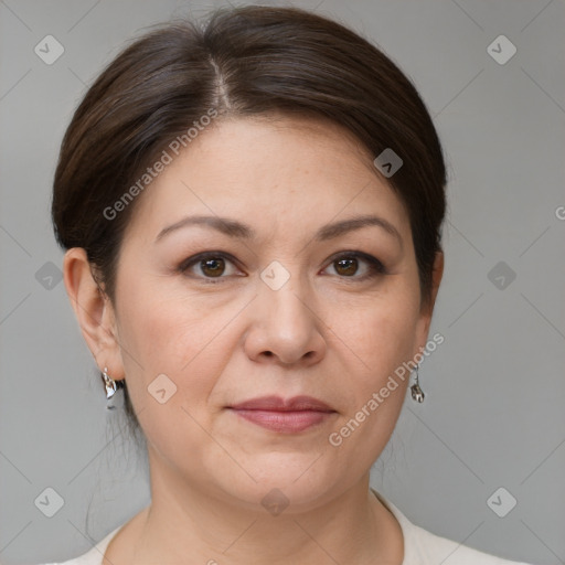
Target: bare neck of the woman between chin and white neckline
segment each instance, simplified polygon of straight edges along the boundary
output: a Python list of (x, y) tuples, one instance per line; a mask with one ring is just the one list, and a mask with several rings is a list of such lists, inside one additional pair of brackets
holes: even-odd
[(136, 565), (402, 563), (402, 530), (370, 491), (369, 472), (308, 511), (289, 507), (273, 515), (194, 488), (151, 455), (150, 461), (152, 502), (138, 530)]

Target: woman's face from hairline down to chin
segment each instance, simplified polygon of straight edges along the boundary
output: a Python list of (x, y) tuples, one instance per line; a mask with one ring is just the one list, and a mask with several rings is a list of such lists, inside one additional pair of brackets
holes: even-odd
[[(366, 475), (407, 375), (370, 401), (429, 324), (408, 216), (375, 172), (337, 126), (245, 118), (202, 131), (138, 196), (106, 364), (126, 376), (153, 477), (248, 508), (279, 489), (291, 512)], [(361, 216), (379, 220), (348, 224)], [(266, 396), (330, 412), (234, 408)]]

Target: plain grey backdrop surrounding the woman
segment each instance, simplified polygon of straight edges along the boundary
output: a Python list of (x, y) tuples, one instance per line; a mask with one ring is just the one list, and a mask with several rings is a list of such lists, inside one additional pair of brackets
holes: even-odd
[[(125, 40), (221, 4), (0, 1), (4, 564), (75, 556), (149, 502), (143, 457), (118, 411), (105, 409), (64, 285), (47, 278), (57, 273), (49, 262), (58, 268), (63, 257), (51, 182), (73, 109)], [(430, 331), (445, 342), (420, 370), (426, 402), (406, 399), (372, 484), (439, 535), (565, 563), (565, 4), (296, 4), (340, 19), (401, 65), (435, 116), (449, 164), (446, 271)], [(47, 34), (65, 49), (52, 65), (34, 53)], [(503, 65), (487, 51), (500, 34), (518, 49)], [(64, 499), (53, 518), (34, 504), (47, 487)], [(500, 487), (518, 500), (504, 518), (487, 503)]]

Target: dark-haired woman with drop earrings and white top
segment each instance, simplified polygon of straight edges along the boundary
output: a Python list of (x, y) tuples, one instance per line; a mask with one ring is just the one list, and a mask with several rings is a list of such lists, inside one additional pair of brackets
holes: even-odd
[(245, 7), (110, 63), (61, 149), (64, 280), (151, 504), (70, 564), (502, 564), (370, 489), (443, 275), (412, 83), (342, 25)]

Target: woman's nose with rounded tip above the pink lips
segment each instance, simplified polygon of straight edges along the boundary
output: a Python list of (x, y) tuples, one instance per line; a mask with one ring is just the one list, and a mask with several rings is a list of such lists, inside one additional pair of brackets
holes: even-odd
[(259, 280), (244, 349), (256, 362), (309, 366), (326, 354), (323, 328), (306, 281), (291, 276), (275, 290)]

